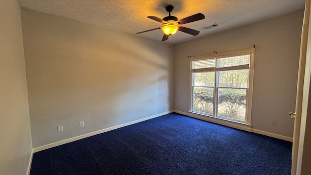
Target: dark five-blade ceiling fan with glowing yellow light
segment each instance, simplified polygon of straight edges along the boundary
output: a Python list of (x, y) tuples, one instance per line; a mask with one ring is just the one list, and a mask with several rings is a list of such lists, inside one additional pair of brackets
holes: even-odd
[(157, 30), (157, 29), (162, 29), (164, 32), (162, 41), (165, 41), (169, 38), (170, 35), (175, 34), (177, 30), (179, 30), (181, 32), (185, 32), (185, 33), (190, 34), (190, 35), (194, 35), (194, 36), (198, 35), (200, 33), (200, 31), (193, 30), (193, 29), (190, 29), (187, 27), (183, 27), (183, 26), (181, 26), (181, 24), (186, 24), (186, 23), (190, 23), (190, 22), (194, 22), (194, 21), (204, 19), (205, 16), (203, 14), (198, 13), (198, 14), (192, 15), (190, 17), (178, 20), (177, 17), (171, 16), (171, 12), (174, 9), (174, 7), (172, 5), (166, 6), (165, 9), (167, 12), (169, 12), (169, 16), (164, 17), (163, 19), (157, 18), (157, 17), (152, 17), (152, 16), (147, 17), (147, 18), (156, 20), (158, 22), (161, 22), (162, 23), (161, 27), (142, 31), (142, 32), (138, 32), (136, 34), (141, 34), (141, 33), (150, 32), (153, 30)]

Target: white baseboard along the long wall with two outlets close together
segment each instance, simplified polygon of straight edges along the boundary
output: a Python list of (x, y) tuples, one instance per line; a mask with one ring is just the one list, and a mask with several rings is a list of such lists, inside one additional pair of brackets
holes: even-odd
[(73, 137), (73, 138), (69, 138), (69, 139), (65, 139), (65, 140), (60, 140), (60, 141), (56, 141), (56, 142), (53, 142), (53, 143), (49, 143), (49, 144), (46, 144), (46, 145), (34, 148), (33, 152), (36, 153), (36, 152), (39, 152), (39, 151), (42, 151), (42, 150), (46, 150), (46, 149), (49, 149), (49, 148), (52, 148), (52, 147), (55, 147), (55, 146), (59, 146), (59, 145), (62, 145), (62, 144), (66, 144), (66, 143), (69, 143), (69, 142), (72, 142), (72, 141), (76, 141), (76, 140), (80, 140), (80, 139), (85, 139), (85, 138), (90, 137), (90, 136), (95, 136), (97, 134), (102, 134), (104, 132), (111, 131), (111, 130), (114, 130), (114, 129), (118, 129), (118, 128), (121, 128), (121, 127), (124, 127), (124, 126), (128, 126), (128, 125), (131, 125), (131, 124), (135, 124), (135, 123), (143, 122), (143, 121), (146, 121), (146, 120), (150, 120), (150, 119), (153, 119), (153, 118), (156, 118), (156, 117), (159, 117), (159, 116), (162, 116), (162, 115), (166, 115), (166, 114), (169, 114), (169, 113), (172, 113), (172, 112), (173, 112), (173, 110), (167, 111), (167, 112), (163, 112), (163, 113), (160, 113), (160, 114), (156, 114), (156, 115), (153, 115), (153, 116), (150, 116), (150, 117), (146, 117), (146, 118), (143, 118), (143, 119), (139, 119), (139, 120), (136, 120), (136, 121), (132, 121), (132, 122), (128, 122), (128, 123), (123, 123), (123, 124), (119, 124), (119, 125), (116, 125), (116, 126), (111, 126), (111, 127), (105, 128), (105, 129), (101, 129), (101, 130), (94, 131), (94, 132), (91, 132), (91, 133), (83, 134), (83, 135), (76, 136), (76, 137)]

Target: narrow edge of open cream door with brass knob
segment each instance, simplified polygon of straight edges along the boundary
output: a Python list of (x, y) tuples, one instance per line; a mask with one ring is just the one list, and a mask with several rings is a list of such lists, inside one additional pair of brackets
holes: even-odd
[[(306, 0), (305, 14), (302, 26), (301, 43), (300, 43), (300, 58), (299, 58), (299, 70), (298, 70), (298, 82), (297, 82), (297, 94), (296, 94), (296, 107), (295, 112), (290, 112), (292, 118), (294, 118), (294, 137), (293, 137), (293, 153), (292, 153), (292, 175), (296, 175), (297, 171), (297, 159), (298, 159), (298, 146), (300, 135), (300, 123), (302, 112), (302, 99), (303, 99), (303, 85), (305, 77), (305, 65), (307, 55), (308, 43), (308, 31), (309, 31), (309, 19), (310, 19), (310, 0)], [(309, 41), (310, 42), (310, 41)], [(300, 171), (298, 171), (300, 172)]]

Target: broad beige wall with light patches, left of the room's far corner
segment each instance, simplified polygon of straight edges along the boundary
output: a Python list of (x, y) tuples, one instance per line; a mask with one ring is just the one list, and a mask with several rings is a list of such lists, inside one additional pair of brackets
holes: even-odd
[(168, 44), (28, 9), (21, 14), (34, 148), (173, 109)]

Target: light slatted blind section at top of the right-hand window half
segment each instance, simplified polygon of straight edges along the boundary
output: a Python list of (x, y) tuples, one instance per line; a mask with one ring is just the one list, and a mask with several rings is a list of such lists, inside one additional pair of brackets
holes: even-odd
[(250, 55), (232, 56), (217, 59), (217, 68), (225, 68), (230, 66), (239, 66), (249, 64)]

